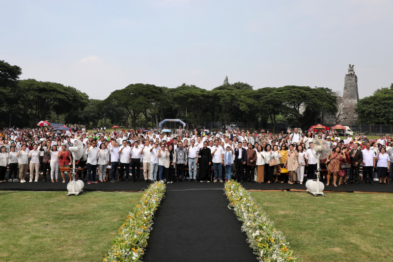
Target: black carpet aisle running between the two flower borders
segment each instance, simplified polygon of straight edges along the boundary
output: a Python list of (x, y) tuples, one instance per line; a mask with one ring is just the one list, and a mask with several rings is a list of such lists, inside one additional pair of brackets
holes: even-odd
[[(169, 189), (169, 188), (168, 188)], [(257, 261), (222, 189), (167, 190), (146, 262)]]

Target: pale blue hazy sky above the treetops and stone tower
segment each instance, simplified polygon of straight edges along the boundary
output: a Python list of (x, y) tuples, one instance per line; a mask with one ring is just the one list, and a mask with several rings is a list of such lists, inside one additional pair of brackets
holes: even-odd
[(131, 83), (247, 82), (359, 97), (393, 82), (392, 0), (0, 0), (0, 59), (21, 79), (105, 99)]

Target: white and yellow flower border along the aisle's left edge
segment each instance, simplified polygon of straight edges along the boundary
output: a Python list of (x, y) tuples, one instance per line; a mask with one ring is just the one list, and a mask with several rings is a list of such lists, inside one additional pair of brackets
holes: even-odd
[(164, 182), (153, 183), (140, 198), (134, 212), (119, 228), (119, 234), (112, 240), (112, 249), (104, 262), (139, 262), (147, 246), (152, 230), (153, 216), (164, 198)]

